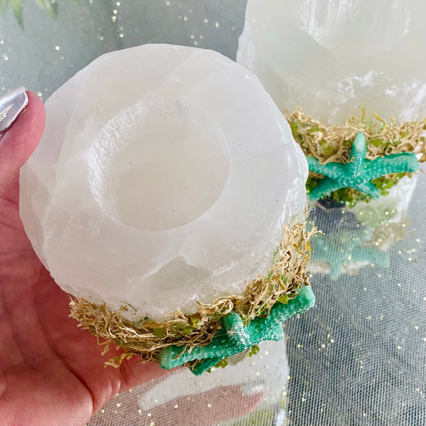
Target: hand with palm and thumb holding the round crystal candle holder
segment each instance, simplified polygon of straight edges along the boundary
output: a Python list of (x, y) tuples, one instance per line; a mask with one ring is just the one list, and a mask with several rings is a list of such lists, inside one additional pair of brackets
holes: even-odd
[(165, 371), (136, 357), (104, 368), (96, 338), (68, 318), (69, 296), (32, 249), (19, 217), (19, 169), (45, 113), (27, 95), (26, 109), (0, 132), (0, 424), (85, 425), (115, 394)]

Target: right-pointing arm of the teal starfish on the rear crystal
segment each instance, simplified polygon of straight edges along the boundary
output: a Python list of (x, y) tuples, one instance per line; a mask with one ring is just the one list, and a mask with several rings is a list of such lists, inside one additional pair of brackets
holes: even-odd
[(389, 173), (414, 173), (419, 170), (419, 161), (413, 153), (389, 154), (375, 160), (366, 160), (366, 172), (370, 179), (389, 175)]

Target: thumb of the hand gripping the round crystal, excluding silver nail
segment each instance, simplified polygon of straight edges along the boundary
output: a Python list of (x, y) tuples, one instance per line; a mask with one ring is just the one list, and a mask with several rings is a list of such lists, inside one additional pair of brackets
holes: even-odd
[(43, 134), (46, 115), (41, 99), (26, 92), (28, 105), (9, 129), (0, 133), (0, 185), (28, 160)]

